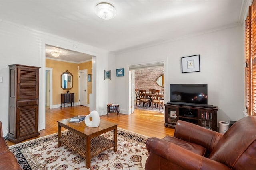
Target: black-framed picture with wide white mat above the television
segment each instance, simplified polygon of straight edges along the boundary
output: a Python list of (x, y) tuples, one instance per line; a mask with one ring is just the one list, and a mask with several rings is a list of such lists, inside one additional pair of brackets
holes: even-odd
[(182, 73), (200, 71), (200, 55), (181, 58)]

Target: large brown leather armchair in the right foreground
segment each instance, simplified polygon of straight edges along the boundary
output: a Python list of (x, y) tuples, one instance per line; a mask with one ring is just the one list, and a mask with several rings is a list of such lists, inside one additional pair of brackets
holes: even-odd
[(256, 116), (226, 133), (177, 121), (174, 137), (150, 137), (145, 170), (256, 170)]

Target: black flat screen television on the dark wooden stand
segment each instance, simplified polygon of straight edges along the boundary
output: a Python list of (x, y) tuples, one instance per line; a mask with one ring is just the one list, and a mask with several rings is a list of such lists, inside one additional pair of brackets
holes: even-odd
[(207, 84), (170, 84), (170, 102), (207, 105)]

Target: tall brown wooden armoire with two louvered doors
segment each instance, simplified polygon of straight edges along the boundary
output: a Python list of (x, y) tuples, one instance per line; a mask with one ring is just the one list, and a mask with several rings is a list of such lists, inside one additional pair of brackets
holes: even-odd
[(18, 143), (38, 136), (39, 68), (9, 65), (9, 133), (8, 139)]

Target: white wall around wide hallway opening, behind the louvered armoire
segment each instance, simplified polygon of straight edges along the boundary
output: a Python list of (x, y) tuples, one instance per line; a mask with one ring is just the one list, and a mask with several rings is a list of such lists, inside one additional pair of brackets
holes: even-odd
[[(3, 83), (0, 83), (0, 120), (2, 121), (4, 135), (8, 132), (8, 115), (9, 115), (9, 67), (10, 64), (22, 64), (29, 66), (41, 66), (40, 78), (44, 81), (45, 77), (45, 59), (43, 54), (44, 44), (56, 45), (79, 52), (88, 52), (96, 57), (93, 61), (93, 92), (94, 109), (100, 115), (106, 114), (106, 104), (114, 101), (114, 83), (115, 76), (111, 76), (111, 80), (104, 80), (104, 69), (115, 72), (114, 55), (108, 51), (98, 49), (89, 45), (81, 44), (70, 39), (47, 35), (19, 25), (5, 23), (0, 21), (0, 77), (3, 77)], [(76, 48), (74, 48), (76, 44)], [(42, 57), (42, 58), (40, 58)], [(40, 108), (39, 109), (39, 127), (44, 128), (45, 118), (42, 115), (44, 111), (45, 101), (45, 82), (40, 81)], [(42, 106), (41, 106), (42, 105)]]

